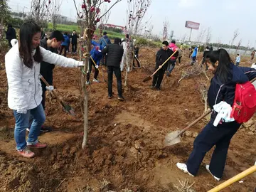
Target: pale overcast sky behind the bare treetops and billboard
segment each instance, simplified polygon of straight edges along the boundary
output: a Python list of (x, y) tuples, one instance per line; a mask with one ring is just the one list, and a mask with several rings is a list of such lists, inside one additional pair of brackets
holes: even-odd
[[(77, 4), (82, 2), (82, 0), (75, 1)], [(28, 7), (28, 9), (25, 8), (25, 12), (29, 11), (30, 5), (31, 0), (9, 0), (9, 6), (14, 11), (23, 11), (24, 6)], [(247, 46), (248, 41), (250, 46), (255, 46), (256, 26), (253, 17), (255, 8), (255, 0), (152, 0), (144, 21), (151, 18), (151, 24), (154, 25), (153, 33), (160, 36), (163, 31), (163, 22), (167, 19), (169, 33), (174, 31), (174, 38), (182, 38), (185, 34), (188, 38), (190, 29), (185, 28), (185, 22), (195, 21), (201, 25), (198, 31), (192, 32), (191, 40), (197, 38), (202, 28), (210, 26), (211, 42), (217, 43), (220, 38), (222, 43), (227, 44), (233, 38), (234, 31), (239, 28), (240, 35), (235, 43), (242, 39), (242, 46)], [(108, 23), (125, 26), (126, 13), (127, 0), (122, 0), (112, 9)], [(63, 0), (60, 14), (75, 18), (73, 0)]]

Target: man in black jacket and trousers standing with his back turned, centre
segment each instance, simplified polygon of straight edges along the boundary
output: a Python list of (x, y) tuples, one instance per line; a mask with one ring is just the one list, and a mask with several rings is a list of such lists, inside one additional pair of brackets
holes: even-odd
[(124, 97), (122, 96), (122, 76), (120, 70), (120, 63), (124, 49), (120, 46), (120, 43), (121, 39), (115, 38), (114, 44), (105, 46), (102, 50), (102, 54), (104, 55), (107, 53), (108, 98), (112, 98), (112, 81), (114, 73), (117, 78), (118, 100), (124, 101)]

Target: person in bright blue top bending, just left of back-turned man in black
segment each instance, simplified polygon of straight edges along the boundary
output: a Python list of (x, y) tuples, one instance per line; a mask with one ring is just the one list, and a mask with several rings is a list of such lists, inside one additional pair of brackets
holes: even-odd
[(97, 80), (97, 76), (99, 75), (98, 68), (100, 65), (100, 60), (102, 59), (102, 46), (100, 46), (100, 43), (97, 43), (96, 41), (92, 41), (91, 43), (92, 43), (92, 46), (94, 46), (94, 47), (90, 51), (90, 55), (92, 56), (92, 59), (95, 61), (96, 65), (90, 58), (89, 70), (86, 75), (86, 84), (87, 85), (90, 84), (90, 73), (92, 73), (92, 65), (95, 68), (95, 75), (94, 75), (92, 82), (99, 82), (99, 80)]

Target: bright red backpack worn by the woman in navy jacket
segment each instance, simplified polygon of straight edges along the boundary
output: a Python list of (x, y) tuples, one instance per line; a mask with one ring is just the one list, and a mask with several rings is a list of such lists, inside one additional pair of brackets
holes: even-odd
[(251, 82), (237, 84), (235, 86), (235, 100), (230, 117), (236, 122), (243, 123), (255, 114), (256, 110), (256, 90)]

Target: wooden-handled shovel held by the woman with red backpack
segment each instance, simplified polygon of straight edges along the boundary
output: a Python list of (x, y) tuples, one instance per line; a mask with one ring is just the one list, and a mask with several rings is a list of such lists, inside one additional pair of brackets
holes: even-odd
[(185, 127), (184, 129), (182, 129), (181, 131), (178, 130), (178, 131), (171, 132), (171, 133), (167, 134), (165, 137), (164, 146), (171, 146), (171, 145), (178, 144), (179, 142), (181, 142), (181, 139), (179, 138), (179, 136), (181, 136), (181, 134), (183, 134), (183, 132), (186, 132), (186, 130), (188, 130), (194, 124), (196, 124), (201, 119), (203, 119), (208, 114), (210, 114), (210, 112), (212, 112), (212, 110), (208, 110), (207, 112), (202, 114), (201, 117), (198, 117), (195, 121), (193, 121), (191, 124), (188, 124), (188, 126)]

